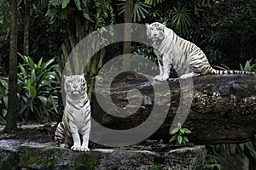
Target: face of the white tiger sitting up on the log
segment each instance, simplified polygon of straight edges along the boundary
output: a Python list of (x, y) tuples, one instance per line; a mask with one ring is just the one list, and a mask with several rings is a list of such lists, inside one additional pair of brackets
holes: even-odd
[(153, 42), (161, 41), (165, 37), (165, 24), (160, 24), (159, 22), (154, 22), (152, 24), (146, 24), (147, 26), (147, 37)]

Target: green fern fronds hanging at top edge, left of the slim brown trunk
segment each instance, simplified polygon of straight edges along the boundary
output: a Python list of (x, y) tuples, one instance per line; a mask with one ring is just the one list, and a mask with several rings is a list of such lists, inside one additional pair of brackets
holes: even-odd
[(46, 17), (50, 24), (55, 21), (67, 20), (74, 10), (81, 11), (84, 19), (93, 23), (96, 28), (106, 26), (110, 19), (113, 23), (114, 13), (110, 0), (49, 0)]

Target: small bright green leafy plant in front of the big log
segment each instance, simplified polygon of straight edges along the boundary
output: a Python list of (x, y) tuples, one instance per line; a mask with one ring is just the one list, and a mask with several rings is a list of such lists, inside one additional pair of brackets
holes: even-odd
[(181, 123), (177, 123), (177, 127), (173, 128), (172, 130), (172, 138), (169, 140), (170, 143), (175, 141), (175, 144), (181, 145), (181, 144), (187, 144), (189, 143), (189, 139), (186, 134), (191, 133), (191, 131), (188, 128), (183, 128)]

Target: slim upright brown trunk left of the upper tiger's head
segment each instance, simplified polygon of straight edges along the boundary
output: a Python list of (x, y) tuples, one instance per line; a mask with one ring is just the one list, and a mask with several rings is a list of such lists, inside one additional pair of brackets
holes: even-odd
[[(132, 22), (132, 0), (125, 1), (125, 23)], [(125, 26), (124, 39), (131, 40), (131, 27)], [(123, 54), (131, 54), (131, 41), (124, 42)], [(123, 57), (123, 69), (130, 68), (130, 59)]]

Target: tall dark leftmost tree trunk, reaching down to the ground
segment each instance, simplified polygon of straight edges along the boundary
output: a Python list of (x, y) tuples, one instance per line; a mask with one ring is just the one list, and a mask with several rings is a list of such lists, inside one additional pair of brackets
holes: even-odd
[(5, 130), (14, 130), (17, 114), (17, 1), (9, 1), (10, 41), (9, 41), (9, 99)]

